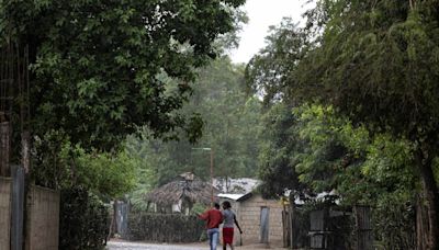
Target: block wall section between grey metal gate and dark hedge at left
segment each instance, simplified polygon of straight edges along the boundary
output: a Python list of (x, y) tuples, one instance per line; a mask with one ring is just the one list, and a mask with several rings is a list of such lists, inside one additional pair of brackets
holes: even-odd
[(32, 186), (27, 197), (26, 250), (57, 250), (59, 192)]

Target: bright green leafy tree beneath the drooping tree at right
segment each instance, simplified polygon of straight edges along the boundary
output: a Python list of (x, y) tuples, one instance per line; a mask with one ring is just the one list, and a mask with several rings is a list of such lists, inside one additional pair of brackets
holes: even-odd
[(387, 249), (413, 249), (415, 204), (419, 178), (412, 166), (412, 144), (391, 134), (371, 135), (356, 127), (331, 106), (294, 109), (295, 138), (302, 152), (293, 151), (300, 182), (314, 192), (331, 192), (341, 205), (372, 209), (375, 240)]

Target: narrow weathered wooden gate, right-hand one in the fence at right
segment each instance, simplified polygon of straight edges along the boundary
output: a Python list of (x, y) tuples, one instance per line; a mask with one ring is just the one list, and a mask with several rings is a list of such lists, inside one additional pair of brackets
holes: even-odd
[(357, 243), (356, 250), (372, 250), (373, 236), (369, 206), (354, 206)]

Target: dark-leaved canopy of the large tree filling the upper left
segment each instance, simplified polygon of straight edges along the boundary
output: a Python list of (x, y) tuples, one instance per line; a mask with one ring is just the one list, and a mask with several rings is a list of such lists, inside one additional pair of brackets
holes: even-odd
[[(1, 45), (29, 46), (34, 133), (109, 149), (137, 125), (158, 135), (187, 126), (173, 111), (244, 2), (1, 1)], [(167, 91), (160, 76), (182, 83)]]

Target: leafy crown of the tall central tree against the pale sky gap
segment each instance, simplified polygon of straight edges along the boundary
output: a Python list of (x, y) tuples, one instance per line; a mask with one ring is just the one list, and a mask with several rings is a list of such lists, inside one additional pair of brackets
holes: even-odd
[(288, 84), (295, 82), (294, 71), (306, 55), (309, 37), (291, 19), (284, 19), (279, 26), (270, 27), (266, 37), (267, 46), (248, 63), (246, 81), (248, 91), (263, 96), (264, 105), (285, 102), (291, 105), (300, 99)]

